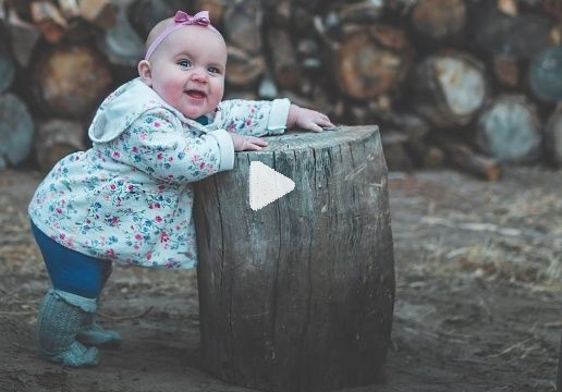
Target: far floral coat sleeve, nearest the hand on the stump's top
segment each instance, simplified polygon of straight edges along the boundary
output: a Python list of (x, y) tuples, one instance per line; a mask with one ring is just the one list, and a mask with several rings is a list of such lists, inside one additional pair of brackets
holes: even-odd
[(221, 102), (222, 127), (247, 136), (279, 135), (285, 132), (289, 99), (243, 100)]

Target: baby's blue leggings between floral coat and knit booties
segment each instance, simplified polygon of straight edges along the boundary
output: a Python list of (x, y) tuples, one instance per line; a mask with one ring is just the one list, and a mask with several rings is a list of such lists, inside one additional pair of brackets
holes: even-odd
[(33, 222), (32, 232), (54, 289), (87, 298), (99, 296), (111, 273), (111, 261), (69, 249), (51, 240)]

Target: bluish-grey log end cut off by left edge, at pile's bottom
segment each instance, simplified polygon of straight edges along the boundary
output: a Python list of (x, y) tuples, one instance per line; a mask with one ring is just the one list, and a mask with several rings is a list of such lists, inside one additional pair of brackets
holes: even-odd
[(34, 121), (24, 101), (0, 95), (0, 169), (22, 163), (33, 148)]

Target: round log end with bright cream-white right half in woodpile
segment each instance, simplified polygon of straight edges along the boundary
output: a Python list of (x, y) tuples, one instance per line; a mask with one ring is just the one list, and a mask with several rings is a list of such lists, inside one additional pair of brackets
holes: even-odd
[(426, 57), (415, 65), (410, 86), (414, 110), (441, 127), (468, 124), (488, 95), (484, 64), (465, 51)]

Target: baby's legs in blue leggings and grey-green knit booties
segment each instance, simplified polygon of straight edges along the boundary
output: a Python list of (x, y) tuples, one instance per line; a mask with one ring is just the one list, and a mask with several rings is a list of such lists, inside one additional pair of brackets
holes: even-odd
[(121, 340), (117, 332), (95, 323), (94, 318), (111, 264), (58, 244), (34, 224), (32, 230), (53, 285), (39, 309), (38, 351), (45, 358), (68, 366), (97, 365), (97, 348), (86, 345)]

